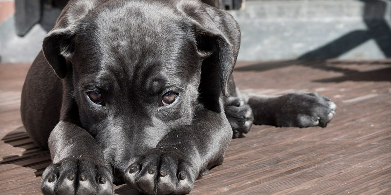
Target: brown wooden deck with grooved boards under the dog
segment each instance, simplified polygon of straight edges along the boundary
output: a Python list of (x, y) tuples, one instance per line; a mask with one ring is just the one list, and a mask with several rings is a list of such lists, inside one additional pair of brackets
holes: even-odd
[[(0, 194), (41, 194), (50, 164), (26, 135), (20, 95), (29, 64), (0, 64)], [(326, 128), (253, 126), (233, 139), (225, 161), (191, 194), (391, 195), (391, 59), (238, 63), (240, 89), (260, 94), (315, 91), (337, 104)], [(116, 186), (119, 195), (138, 194)]]

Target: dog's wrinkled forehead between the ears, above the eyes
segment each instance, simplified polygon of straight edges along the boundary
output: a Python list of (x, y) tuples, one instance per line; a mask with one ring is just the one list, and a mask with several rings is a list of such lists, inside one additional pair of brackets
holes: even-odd
[(84, 73), (170, 80), (196, 69), (199, 59), (190, 25), (164, 6), (129, 1), (105, 6), (82, 26), (77, 53), (86, 60)]

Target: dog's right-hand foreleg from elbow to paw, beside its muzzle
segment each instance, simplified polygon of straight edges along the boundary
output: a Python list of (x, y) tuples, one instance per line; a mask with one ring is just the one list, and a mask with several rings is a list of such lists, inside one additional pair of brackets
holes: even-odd
[(202, 171), (221, 164), (232, 137), (224, 113), (198, 112), (192, 125), (175, 128), (143, 156), (130, 161), (124, 176), (146, 194), (187, 194)]

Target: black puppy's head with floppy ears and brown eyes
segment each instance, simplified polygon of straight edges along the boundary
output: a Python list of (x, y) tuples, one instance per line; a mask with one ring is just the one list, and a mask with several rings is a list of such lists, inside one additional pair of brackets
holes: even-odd
[(68, 90), (62, 113), (77, 107), (105, 155), (121, 161), (190, 125), (197, 109), (223, 111), (239, 50), (235, 22), (215, 22), (214, 8), (198, 1), (103, 1), (68, 3), (43, 53)]

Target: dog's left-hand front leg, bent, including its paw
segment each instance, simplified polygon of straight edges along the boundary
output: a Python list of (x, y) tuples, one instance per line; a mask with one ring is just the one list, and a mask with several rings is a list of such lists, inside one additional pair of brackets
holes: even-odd
[(53, 164), (42, 175), (44, 195), (111, 195), (112, 174), (87, 131), (60, 121), (49, 137)]

